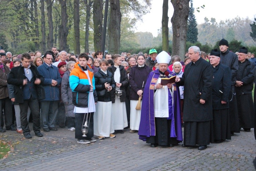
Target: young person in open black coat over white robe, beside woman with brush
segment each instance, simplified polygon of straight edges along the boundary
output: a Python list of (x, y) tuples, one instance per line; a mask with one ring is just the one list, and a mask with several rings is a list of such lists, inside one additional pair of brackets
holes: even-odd
[(109, 67), (108, 70), (113, 74), (115, 81), (115, 89), (120, 89), (122, 95), (120, 98), (115, 95), (114, 91), (112, 94), (112, 113), (115, 133), (123, 133), (123, 128), (128, 126), (126, 107), (125, 107), (125, 89), (128, 86), (128, 76), (123, 66), (121, 66), (121, 56), (119, 54), (113, 55), (114, 65)]

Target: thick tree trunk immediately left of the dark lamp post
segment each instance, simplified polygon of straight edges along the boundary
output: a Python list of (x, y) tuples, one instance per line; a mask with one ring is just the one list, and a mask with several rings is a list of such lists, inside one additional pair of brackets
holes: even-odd
[(102, 44), (102, 21), (103, 21), (103, 4), (101, 0), (94, 0), (93, 3), (93, 42), (94, 42), (94, 50), (98, 51), (101, 50)]

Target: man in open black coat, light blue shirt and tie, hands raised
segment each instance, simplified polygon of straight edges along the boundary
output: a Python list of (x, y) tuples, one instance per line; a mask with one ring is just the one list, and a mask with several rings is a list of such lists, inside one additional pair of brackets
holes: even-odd
[(42, 137), (40, 133), (40, 113), (38, 98), (42, 98), (40, 83), (44, 77), (40, 75), (35, 66), (30, 65), (31, 57), (28, 53), (21, 56), (22, 64), (14, 67), (9, 73), (7, 83), (15, 85), (15, 102), (20, 107), (20, 121), (25, 138), (32, 138), (27, 122), (27, 108), (31, 109), (33, 117), (33, 130), (37, 137)]

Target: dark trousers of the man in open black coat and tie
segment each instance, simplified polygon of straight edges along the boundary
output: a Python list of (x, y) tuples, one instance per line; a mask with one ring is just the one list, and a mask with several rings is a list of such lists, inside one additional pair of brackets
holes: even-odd
[(20, 108), (20, 123), (23, 131), (23, 135), (30, 133), (27, 122), (27, 108), (30, 108), (33, 117), (33, 130), (34, 132), (40, 132), (40, 113), (37, 99), (32, 99), (32, 96), (28, 100), (24, 100), (24, 103), (19, 104)]

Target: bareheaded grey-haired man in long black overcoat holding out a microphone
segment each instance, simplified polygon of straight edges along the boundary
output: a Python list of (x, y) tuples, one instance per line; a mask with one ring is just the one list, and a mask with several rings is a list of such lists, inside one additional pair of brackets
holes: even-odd
[(176, 82), (184, 85), (184, 144), (182, 147), (199, 145), (204, 150), (210, 143), (212, 125), (212, 79), (213, 69), (200, 57), (200, 49), (188, 49), (191, 60), (181, 78)]

